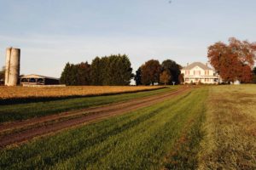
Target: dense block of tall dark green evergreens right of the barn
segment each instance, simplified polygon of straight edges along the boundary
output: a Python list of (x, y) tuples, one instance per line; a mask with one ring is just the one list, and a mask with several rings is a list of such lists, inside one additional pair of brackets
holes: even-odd
[(67, 63), (61, 73), (60, 82), (66, 85), (129, 85), (132, 78), (131, 62), (127, 55), (118, 54), (96, 57), (91, 65), (82, 62)]

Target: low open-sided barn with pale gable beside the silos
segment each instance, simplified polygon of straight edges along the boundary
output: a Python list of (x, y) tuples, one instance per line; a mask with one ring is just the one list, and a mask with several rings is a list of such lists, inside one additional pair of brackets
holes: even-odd
[(55, 85), (60, 84), (59, 78), (45, 77), (40, 75), (20, 76), (20, 85)]

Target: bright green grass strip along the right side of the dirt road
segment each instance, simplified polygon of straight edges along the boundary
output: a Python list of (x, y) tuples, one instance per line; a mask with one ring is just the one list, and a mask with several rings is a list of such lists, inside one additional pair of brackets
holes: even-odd
[[(207, 88), (0, 151), (4, 169), (160, 168), (194, 117), (203, 115)], [(200, 127), (199, 127), (200, 128)]]

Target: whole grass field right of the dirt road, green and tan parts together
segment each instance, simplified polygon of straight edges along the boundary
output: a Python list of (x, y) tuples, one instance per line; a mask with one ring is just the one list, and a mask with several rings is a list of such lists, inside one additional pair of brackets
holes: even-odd
[(255, 156), (256, 86), (211, 86), (4, 148), (0, 167), (255, 169)]

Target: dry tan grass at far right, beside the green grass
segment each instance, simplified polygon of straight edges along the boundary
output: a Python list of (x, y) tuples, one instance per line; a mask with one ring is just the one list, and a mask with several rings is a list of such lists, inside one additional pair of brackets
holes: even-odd
[(256, 86), (212, 87), (200, 169), (256, 169)]

